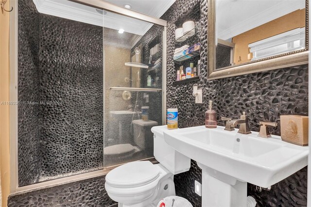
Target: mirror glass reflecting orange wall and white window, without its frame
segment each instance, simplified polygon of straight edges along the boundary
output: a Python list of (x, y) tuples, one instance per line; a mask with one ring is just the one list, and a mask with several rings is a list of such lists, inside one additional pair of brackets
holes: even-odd
[(305, 0), (216, 0), (216, 69), (305, 49)]

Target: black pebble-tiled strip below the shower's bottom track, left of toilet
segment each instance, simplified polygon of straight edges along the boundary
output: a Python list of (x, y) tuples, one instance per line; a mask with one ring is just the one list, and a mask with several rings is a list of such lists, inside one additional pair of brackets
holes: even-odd
[(104, 188), (104, 177), (11, 195), (8, 207), (117, 207)]

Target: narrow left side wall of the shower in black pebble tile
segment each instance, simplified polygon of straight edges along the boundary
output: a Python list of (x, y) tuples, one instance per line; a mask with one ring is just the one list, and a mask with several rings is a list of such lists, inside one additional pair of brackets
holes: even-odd
[[(39, 180), (40, 101), (39, 13), (32, 0), (18, 0), (18, 183)], [(25, 103), (27, 102), (27, 103)]]

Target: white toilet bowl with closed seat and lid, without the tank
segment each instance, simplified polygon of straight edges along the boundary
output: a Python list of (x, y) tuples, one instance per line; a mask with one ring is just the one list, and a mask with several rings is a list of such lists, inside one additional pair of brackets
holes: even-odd
[[(124, 165), (129, 166), (121, 168)], [(121, 204), (126, 204), (125, 206), (156, 207), (160, 199), (168, 195), (174, 195), (173, 173), (169, 172), (161, 164), (153, 165), (150, 161), (135, 161), (124, 165), (115, 168), (121, 168), (120, 172), (114, 169), (105, 177), (105, 190), (112, 200)], [(146, 169), (150, 170), (149, 176), (147, 176), (148, 173), (141, 172)], [(134, 173), (133, 170), (138, 172), (138, 174)], [(142, 175), (142, 173), (146, 174)], [(135, 179), (130, 178), (133, 174), (136, 176)], [(125, 178), (123, 181), (121, 179), (123, 175), (127, 176), (126, 179), (130, 178), (132, 182), (121, 183), (125, 180)], [(163, 189), (166, 184), (170, 184), (169, 186), (171, 186), (171, 188), (169, 188), (169, 190), (160, 190)], [(157, 196), (159, 196), (158, 199)], [(151, 205), (155, 200), (158, 200), (156, 204)]]

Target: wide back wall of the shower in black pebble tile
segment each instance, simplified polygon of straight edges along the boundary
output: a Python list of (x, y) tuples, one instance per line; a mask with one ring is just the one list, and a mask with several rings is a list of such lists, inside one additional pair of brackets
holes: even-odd
[[(103, 29), (40, 14), (42, 176), (103, 166)], [(60, 38), (61, 37), (61, 38)]]

